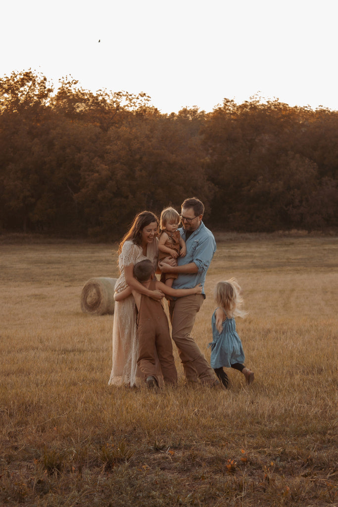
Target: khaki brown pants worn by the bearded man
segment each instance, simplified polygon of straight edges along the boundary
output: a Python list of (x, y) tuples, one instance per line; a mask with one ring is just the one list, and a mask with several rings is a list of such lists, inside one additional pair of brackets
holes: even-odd
[(212, 384), (216, 378), (214, 372), (190, 334), (203, 301), (202, 294), (193, 294), (177, 298), (176, 301), (169, 301), (169, 315), (172, 324), (172, 339), (178, 348), (186, 380), (198, 382), (199, 379), (203, 383)]

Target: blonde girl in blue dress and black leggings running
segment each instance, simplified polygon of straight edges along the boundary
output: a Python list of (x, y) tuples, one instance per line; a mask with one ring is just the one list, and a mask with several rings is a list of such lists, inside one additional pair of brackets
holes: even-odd
[(244, 317), (247, 312), (242, 310), (242, 289), (235, 278), (218, 282), (214, 289), (214, 299), (218, 308), (211, 319), (212, 342), (211, 368), (225, 387), (229, 387), (229, 377), (223, 366), (235, 368), (245, 376), (246, 383), (253, 382), (254, 374), (245, 368), (242, 342), (236, 333), (235, 316)]

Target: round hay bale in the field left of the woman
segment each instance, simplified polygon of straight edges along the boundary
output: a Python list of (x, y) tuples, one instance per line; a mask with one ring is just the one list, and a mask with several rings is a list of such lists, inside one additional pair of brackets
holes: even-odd
[(90, 278), (81, 294), (81, 310), (92, 315), (114, 313), (114, 287), (116, 278)]

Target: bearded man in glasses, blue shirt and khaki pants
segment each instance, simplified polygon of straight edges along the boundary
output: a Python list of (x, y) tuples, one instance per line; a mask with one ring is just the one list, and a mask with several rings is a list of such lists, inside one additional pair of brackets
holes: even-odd
[(170, 266), (164, 260), (159, 267), (165, 273), (178, 273), (173, 288), (192, 288), (202, 283), (202, 294), (183, 296), (168, 302), (172, 339), (178, 348), (186, 381), (196, 383), (200, 380), (203, 384), (215, 386), (219, 382), (191, 336), (196, 314), (205, 299), (205, 276), (216, 251), (215, 238), (202, 222), (203, 214), (204, 205), (199, 199), (185, 199), (180, 215), (183, 227), (179, 232), (186, 243), (186, 255), (178, 258), (178, 266)]

